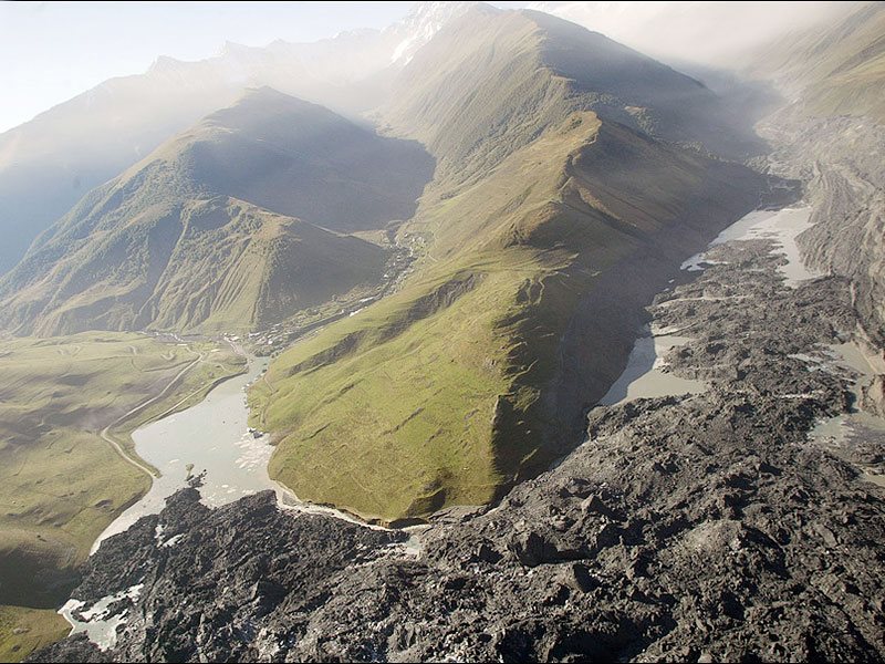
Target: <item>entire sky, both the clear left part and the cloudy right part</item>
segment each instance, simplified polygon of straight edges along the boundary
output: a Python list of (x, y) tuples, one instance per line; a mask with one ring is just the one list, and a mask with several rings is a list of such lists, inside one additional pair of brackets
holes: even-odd
[[(0, 132), (158, 55), (201, 60), (225, 41), (263, 46), (384, 28), (415, 2), (2, 2)], [(529, 2), (491, 2), (516, 8)], [(722, 53), (801, 27), (834, 2), (532, 2), (654, 55)]]

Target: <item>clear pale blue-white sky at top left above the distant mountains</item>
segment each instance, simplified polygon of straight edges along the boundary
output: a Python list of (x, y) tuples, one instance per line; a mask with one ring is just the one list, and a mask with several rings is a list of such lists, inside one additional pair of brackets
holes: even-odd
[(414, 2), (0, 2), (0, 132), (157, 55), (384, 28)]

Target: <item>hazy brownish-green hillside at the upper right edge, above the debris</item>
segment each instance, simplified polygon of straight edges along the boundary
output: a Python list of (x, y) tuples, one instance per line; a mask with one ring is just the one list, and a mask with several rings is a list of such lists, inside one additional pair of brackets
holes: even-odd
[(885, 2), (845, 3), (842, 17), (758, 56), (756, 75), (790, 98), (762, 131), (772, 170), (801, 178), (814, 226), (804, 258), (847, 277), (866, 333), (885, 345)]

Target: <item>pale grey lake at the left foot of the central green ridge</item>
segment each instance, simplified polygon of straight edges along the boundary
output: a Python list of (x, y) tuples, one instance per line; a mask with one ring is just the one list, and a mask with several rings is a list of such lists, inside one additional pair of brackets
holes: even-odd
[(273, 447), (267, 436), (256, 438), (248, 430), (246, 388), (267, 366), (266, 357), (250, 359), (247, 373), (225, 381), (196, 406), (133, 432), (138, 456), (153, 464), (160, 477), (154, 478), (144, 498), (102, 532), (93, 552), (102, 540), (123, 532), (145, 515), (158, 513), (166, 498), (187, 486), (190, 464), (190, 474), (206, 474), (200, 492), (209, 506), (278, 488), (268, 476)]

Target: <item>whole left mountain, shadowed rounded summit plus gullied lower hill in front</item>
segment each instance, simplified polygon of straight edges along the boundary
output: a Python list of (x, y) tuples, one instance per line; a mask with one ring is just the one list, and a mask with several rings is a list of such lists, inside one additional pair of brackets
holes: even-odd
[(379, 247), (309, 221), (352, 230), (407, 218), (430, 164), (414, 144), (253, 91), (39, 238), (0, 281), (2, 323), (59, 334), (279, 321), (384, 271)]

